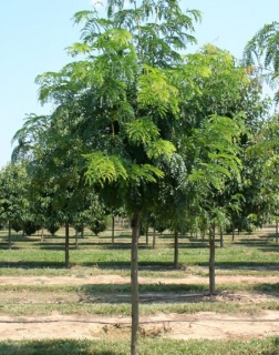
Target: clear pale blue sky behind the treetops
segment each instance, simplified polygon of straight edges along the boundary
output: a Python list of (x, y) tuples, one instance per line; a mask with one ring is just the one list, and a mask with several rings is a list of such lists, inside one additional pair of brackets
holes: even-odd
[[(279, 0), (182, 0), (180, 6), (203, 12), (195, 32), (198, 48), (214, 43), (237, 58), (265, 23), (279, 20)], [(50, 106), (38, 102), (34, 79), (71, 61), (64, 49), (80, 38), (80, 28), (71, 19), (76, 11), (89, 9), (91, 0), (1, 1), (0, 168), (10, 160), (11, 139), (25, 114), (49, 113)]]

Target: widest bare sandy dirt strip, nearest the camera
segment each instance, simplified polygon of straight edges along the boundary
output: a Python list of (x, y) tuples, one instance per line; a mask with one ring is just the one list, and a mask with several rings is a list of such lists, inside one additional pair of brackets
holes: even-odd
[[(0, 317), (0, 341), (45, 338), (128, 337), (130, 317), (86, 315), (46, 317)], [(256, 316), (197, 313), (194, 315), (158, 314), (142, 316), (140, 336), (175, 339), (250, 339), (279, 335), (279, 312), (266, 311)]]

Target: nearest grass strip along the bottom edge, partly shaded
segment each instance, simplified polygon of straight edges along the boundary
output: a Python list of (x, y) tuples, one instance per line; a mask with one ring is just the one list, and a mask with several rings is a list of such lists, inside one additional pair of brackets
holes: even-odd
[[(0, 342), (2, 355), (126, 355), (130, 341), (22, 341)], [(138, 355), (277, 355), (279, 338), (244, 341), (175, 341), (165, 338), (140, 338)]]

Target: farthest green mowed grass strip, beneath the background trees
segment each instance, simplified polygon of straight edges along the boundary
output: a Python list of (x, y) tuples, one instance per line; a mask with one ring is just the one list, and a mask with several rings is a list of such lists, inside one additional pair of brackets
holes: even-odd
[[(166, 239), (169, 243), (166, 243)], [(20, 245), (13, 250), (0, 250), (0, 266), (3, 268), (43, 268), (45, 273), (50, 268), (63, 268), (64, 266), (64, 240), (50, 239), (43, 243), (34, 236), (21, 237)], [(70, 251), (70, 263), (74, 267), (94, 267), (99, 270), (128, 270), (130, 268), (130, 239), (125, 243), (117, 242), (114, 245), (110, 240), (90, 236), (86, 243)], [(101, 240), (101, 242), (100, 242)], [(245, 272), (254, 268), (268, 268), (278, 272), (279, 246), (275, 245), (270, 237), (241, 236), (234, 243), (230, 236), (226, 236), (225, 247), (218, 247), (216, 242), (216, 268), (221, 271)], [(17, 244), (17, 243), (16, 243)], [(158, 237), (156, 248), (147, 247), (144, 240), (140, 243), (140, 268), (153, 267), (163, 271), (173, 266), (174, 250), (169, 236)], [(208, 243), (207, 240), (185, 237), (179, 244), (179, 263), (184, 271), (187, 267), (207, 267)], [(2, 271), (3, 273), (3, 271)]]

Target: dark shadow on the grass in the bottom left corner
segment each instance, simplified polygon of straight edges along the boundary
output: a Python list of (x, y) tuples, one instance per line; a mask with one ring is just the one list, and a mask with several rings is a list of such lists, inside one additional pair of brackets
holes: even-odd
[[(69, 331), (71, 334), (71, 332)], [(110, 345), (90, 341), (51, 339), (51, 341), (23, 341), (0, 342), (2, 355), (122, 355), (123, 352), (108, 349)]]

